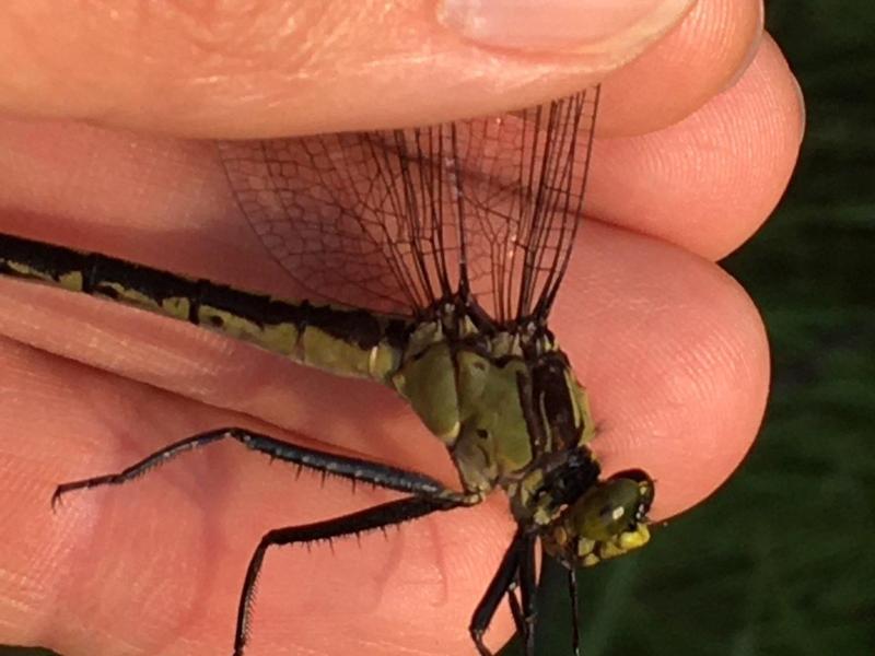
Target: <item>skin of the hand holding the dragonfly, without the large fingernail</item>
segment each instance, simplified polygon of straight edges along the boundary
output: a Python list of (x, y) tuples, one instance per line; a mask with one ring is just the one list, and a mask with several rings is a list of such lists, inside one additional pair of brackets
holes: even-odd
[[(777, 203), (804, 121), (758, 2), (700, 0), (644, 39), (620, 31), (562, 51), (475, 43), (412, 0), (354, 15), (326, 2), (318, 21), (294, 3), (244, 4), (77, 4), (65, 16), (51, 0), (8, 3), (0, 231), (288, 295), (213, 149), (191, 138), (421, 125), (604, 80), (592, 221), (551, 328), (592, 397), (605, 470), (656, 479), (654, 519), (731, 476), (762, 418), (769, 356), (755, 306), (714, 260)], [(392, 497), (295, 480), (222, 445), (50, 511), (57, 483), (198, 431), (245, 425), (455, 481), (440, 443), (373, 384), (19, 281), (0, 281), (0, 643), (230, 653), (266, 530)], [(512, 530), (495, 494), (361, 547), (275, 550), (247, 654), (472, 653), (468, 619)], [(511, 631), (500, 614), (490, 644)]]

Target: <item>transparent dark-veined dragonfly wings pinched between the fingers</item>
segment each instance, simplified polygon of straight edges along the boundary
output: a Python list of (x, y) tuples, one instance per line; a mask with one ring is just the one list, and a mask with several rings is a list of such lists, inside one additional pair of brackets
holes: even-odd
[(546, 318), (559, 288), (596, 99), (219, 149), (243, 213), (311, 298), (417, 315), (469, 291), (504, 324)]

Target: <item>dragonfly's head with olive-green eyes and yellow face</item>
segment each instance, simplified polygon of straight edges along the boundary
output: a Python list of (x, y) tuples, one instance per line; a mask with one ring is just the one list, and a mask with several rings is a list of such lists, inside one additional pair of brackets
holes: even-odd
[(653, 480), (628, 469), (598, 481), (545, 526), (544, 548), (569, 567), (592, 566), (650, 540), (648, 512)]

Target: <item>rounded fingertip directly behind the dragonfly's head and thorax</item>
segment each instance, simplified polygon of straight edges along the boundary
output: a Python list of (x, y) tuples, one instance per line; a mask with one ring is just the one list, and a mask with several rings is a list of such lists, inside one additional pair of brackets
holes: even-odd
[(550, 323), (591, 389), (606, 470), (648, 470), (654, 516), (672, 516), (752, 444), (769, 388), (762, 320), (704, 259), (597, 223), (582, 232)]

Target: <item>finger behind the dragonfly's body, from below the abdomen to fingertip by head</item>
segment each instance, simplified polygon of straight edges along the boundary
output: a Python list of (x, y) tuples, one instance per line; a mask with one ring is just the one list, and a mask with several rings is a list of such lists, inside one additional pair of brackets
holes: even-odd
[[(656, 448), (666, 460), (651, 456), (668, 481), (670, 467), (689, 458), (693, 473), (705, 471), (696, 460), (703, 452), (684, 441), (695, 444), (700, 426), (715, 421), (719, 437), (708, 437), (708, 444), (727, 445), (732, 457), (721, 458), (726, 467), (721, 476), (701, 484), (723, 480), (752, 440), (765, 399), (766, 347), (756, 311), (704, 260), (617, 229), (590, 224), (583, 232), (551, 326), (591, 387), (596, 419), (608, 422), (599, 449), (631, 441), (628, 449), (619, 448), (621, 465), (631, 467), (641, 444), (655, 447), (654, 436), (673, 441)], [(108, 302), (2, 282), (9, 311), (0, 329), (19, 341), (397, 465), (433, 468), (440, 453), (420, 459), (420, 444), (433, 438), (399, 398), (380, 386), (294, 366), (219, 335)], [(655, 429), (637, 423), (653, 417), (663, 422)], [(674, 425), (673, 417), (685, 418), (681, 425)], [(639, 425), (648, 430), (642, 433)], [(454, 480), (444, 465), (444, 480)], [(710, 491), (686, 480), (676, 490), (664, 489), (663, 515)]]

